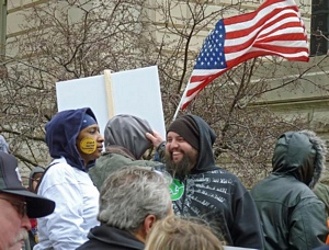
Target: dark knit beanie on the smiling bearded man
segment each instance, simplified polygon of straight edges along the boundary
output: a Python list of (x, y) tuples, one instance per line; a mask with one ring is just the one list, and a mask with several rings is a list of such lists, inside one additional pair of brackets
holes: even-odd
[(190, 115), (183, 115), (173, 121), (167, 129), (182, 136), (193, 148), (198, 150), (198, 126)]

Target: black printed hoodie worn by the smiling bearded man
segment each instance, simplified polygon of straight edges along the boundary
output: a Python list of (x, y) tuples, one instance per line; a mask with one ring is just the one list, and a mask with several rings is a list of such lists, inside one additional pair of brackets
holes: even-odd
[(214, 132), (198, 116), (190, 116), (198, 127), (198, 159), (189, 175), (173, 180), (175, 214), (205, 219), (228, 246), (263, 249), (263, 232), (251, 195), (236, 175), (215, 166)]

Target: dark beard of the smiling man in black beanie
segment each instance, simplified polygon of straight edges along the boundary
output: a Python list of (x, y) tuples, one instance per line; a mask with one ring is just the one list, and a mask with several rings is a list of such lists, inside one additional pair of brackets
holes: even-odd
[(173, 177), (183, 179), (196, 164), (197, 154), (183, 152), (183, 158), (179, 162), (174, 162), (171, 152), (166, 154), (166, 169)]

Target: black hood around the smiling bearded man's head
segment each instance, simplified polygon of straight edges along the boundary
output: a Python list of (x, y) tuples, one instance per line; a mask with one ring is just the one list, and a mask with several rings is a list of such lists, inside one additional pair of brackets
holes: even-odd
[(216, 140), (216, 135), (209, 125), (196, 115), (188, 115), (193, 118), (198, 127), (198, 158), (196, 166), (191, 173), (204, 172), (216, 169), (213, 145)]

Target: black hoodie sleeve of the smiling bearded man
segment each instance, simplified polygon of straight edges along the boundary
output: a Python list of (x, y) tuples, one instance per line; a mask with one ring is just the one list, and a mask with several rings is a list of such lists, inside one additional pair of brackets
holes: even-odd
[(234, 225), (231, 238), (234, 246), (264, 249), (264, 238), (258, 209), (246, 188), (238, 182), (236, 198), (232, 201)]

